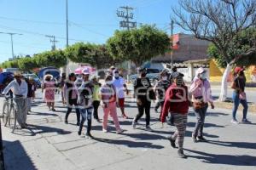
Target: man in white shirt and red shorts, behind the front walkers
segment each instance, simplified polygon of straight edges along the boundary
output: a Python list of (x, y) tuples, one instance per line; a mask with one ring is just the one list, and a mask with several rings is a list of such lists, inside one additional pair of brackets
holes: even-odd
[(124, 78), (119, 76), (119, 71), (118, 70), (113, 71), (113, 86), (114, 86), (115, 91), (116, 91), (116, 97), (118, 99), (117, 103), (118, 103), (118, 106), (119, 106), (119, 108), (122, 112), (122, 116), (125, 119), (127, 119), (128, 116), (125, 115), (125, 93), (124, 93), (124, 90), (128, 94), (128, 89), (126, 87)]

